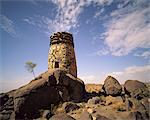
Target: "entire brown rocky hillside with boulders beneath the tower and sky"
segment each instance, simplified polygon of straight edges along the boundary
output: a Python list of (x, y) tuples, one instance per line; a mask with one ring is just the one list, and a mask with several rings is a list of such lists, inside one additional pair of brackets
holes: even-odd
[(47, 71), (0, 94), (0, 120), (149, 120), (149, 85), (108, 76), (87, 84), (64, 70)]

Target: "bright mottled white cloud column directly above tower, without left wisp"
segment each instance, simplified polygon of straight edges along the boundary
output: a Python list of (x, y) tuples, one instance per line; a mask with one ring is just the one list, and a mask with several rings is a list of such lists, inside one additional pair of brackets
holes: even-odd
[(58, 6), (58, 14), (55, 20), (49, 23), (54, 31), (69, 31), (77, 27), (79, 15), (85, 6), (92, 3), (97, 5), (109, 5), (112, 0), (52, 0)]

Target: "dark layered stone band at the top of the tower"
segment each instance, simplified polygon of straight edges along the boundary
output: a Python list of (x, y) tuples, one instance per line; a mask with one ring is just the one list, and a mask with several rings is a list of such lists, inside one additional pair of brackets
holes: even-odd
[(69, 43), (74, 47), (73, 36), (68, 32), (57, 32), (50, 36), (50, 45), (58, 43)]

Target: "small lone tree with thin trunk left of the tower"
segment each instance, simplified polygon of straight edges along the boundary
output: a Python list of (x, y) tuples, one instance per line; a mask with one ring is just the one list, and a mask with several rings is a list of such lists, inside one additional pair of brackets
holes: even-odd
[(35, 78), (35, 73), (34, 73), (34, 68), (36, 67), (36, 64), (33, 63), (32, 61), (27, 61), (25, 63), (25, 68), (27, 69), (28, 72), (32, 73), (34, 78)]

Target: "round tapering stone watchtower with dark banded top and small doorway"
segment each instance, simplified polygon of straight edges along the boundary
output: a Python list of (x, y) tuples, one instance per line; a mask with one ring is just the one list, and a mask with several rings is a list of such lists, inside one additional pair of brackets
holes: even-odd
[(48, 69), (63, 68), (77, 77), (73, 36), (68, 32), (57, 32), (50, 37)]

